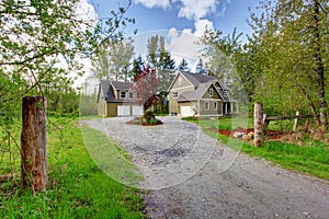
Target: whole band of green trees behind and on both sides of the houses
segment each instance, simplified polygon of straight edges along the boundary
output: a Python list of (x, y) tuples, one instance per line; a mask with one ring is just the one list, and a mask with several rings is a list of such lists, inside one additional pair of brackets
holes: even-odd
[[(83, 58), (91, 58), (98, 79), (115, 72), (113, 79), (128, 80), (143, 62), (159, 71), (190, 70), (186, 60), (174, 62), (160, 36), (149, 39), (145, 60), (134, 57), (123, 31), (135, 23), (124, 16), (129, 1), (107, 20), (76, 19), (77, 3), (0, 2), (1, 126), (20, 117), (25, 95), (45, 95), (49, 113), (78, 113), (82, 90), (72, 88), (77, 78), (70, 72), (86, 73)], [(316, 125), (327, 130), (328, 11), (328, 0), (260, 1), (257, 9), (250, 9), (246, 25), (252, 27), (252, 34), (247, 41), (236, 31), (227, 36), (220, 30), (205, 31), (201, 43), (207, 62), (201, 59), (198, 73), (223, 79), (234, 68), (240, 83), (230, 79), (231, 90), (245, 93), (249, 103), (263, 102), (271, 115), (313, 114)], [(220, 61), (219, 53), (230, 66)]]

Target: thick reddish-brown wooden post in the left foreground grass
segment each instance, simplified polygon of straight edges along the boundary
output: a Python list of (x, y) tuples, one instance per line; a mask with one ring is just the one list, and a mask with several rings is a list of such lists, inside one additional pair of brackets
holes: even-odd
[(22, 185), (38, 193), (47, 187), (46, 97), (25, 96), (22, 108)]

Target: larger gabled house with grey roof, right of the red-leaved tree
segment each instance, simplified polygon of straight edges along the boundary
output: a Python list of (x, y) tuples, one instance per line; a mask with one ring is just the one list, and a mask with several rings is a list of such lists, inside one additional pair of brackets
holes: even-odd
[(186, 116), (223, 116), (237, 113), (237, 103), (217, 78), (180, 71), (169, 87), (169, 113)]

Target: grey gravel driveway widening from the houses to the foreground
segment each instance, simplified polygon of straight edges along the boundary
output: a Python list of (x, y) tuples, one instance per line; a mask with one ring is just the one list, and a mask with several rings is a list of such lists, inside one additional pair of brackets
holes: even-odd
[(132, 155), (149, 218), (329, 218), (328, 181), (240, 154), (175, 117), (152, 127), (129, 119), (84, 123)]

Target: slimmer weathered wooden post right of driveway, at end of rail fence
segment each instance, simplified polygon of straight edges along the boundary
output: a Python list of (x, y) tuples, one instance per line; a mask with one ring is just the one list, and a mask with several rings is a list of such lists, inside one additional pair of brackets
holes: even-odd
[(253, 116), (254, 116), (254, 138), (253, 138), (253, 143), (254, 147), (261, 147), (263, 142), (263, 103), (254, 103), (254, 111), (253, 111)]

